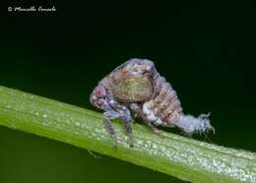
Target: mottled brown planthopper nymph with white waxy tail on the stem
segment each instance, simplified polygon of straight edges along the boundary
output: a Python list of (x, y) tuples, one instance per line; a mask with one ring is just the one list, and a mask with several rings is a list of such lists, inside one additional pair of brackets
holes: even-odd
[(159, 135), (159, 125), (178, 127), (186, 134), (214, 131), (208, 114), (194, 117), (183, 113), (176, 91), (147, 59), (133, 58), (114, 69), (98, 82), (90, 101), (104, 111), (104, 125), (115, 146), (117, 138), (110, 121), (114, 118), (123, 123), (130, 147), (133, 147), (133, 118), (141, 118)]

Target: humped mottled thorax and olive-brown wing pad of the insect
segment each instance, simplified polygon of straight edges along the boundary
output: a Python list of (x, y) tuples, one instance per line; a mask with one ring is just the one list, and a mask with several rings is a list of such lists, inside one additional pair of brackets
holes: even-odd
[(131, 66), (126, 62), (114, 69), (101, 80), (98, 85), (103, 86), (113, 98), (123, 102), (138, 102), (149, 100), (153, 95), (153, 86), (150, 74), (152, 65)]

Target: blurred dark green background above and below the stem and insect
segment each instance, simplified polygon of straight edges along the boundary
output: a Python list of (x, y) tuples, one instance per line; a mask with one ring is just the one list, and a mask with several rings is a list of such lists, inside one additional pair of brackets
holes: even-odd
[[(39, 4), (57, 12), (6, 10)], [(89, 95), (98, 80), (129, 58), (148, 58), (186, 113), (212, 112), (213, 143), (256, 152), (255, 1), (14, 1), (2, 7), (0, 85), (94, 109)], [(0, 127), (1, 183), (179, 182), (100, 156)]]

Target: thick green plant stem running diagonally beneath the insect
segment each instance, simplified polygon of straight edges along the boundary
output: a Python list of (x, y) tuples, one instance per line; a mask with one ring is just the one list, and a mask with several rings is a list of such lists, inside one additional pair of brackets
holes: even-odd
[[(118, 148), (102, 124), (102, 114), (0, 87), (0, 125), (123, 159), (191, 182), (256, 182), (256, 155), (182, 136), (153, 134), (134, 124), (134, 148), (114, 121)], [(4, 145), (2, 145), (4, 146)]]

